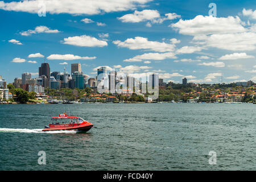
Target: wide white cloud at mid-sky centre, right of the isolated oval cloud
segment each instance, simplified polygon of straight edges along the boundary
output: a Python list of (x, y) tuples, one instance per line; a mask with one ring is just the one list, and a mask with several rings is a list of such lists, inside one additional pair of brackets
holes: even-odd
[(174, 51), (175, 44), (168, 44), (164, 42), (150, 41), (147, 38), (142, 38), (140, 36), (130, 39), (126, 39), (124, 42), (120, 40), (113, 41), (118, 47), (127, 47), (129, 49), (144, 49), (146, 51), (155, 52), (171, 52)]

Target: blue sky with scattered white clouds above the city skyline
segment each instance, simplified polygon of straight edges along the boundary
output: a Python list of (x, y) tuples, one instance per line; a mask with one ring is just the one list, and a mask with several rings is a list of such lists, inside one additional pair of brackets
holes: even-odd
[[(81, 63), (90, 77), (107, 65), (135, 76), (158, 72), (164, 81), (214, 83), (221, 74), (224, 82), (256, 81), (255, 1), (18, 2), (0, 1), (7, 82), (24, 72), (37, 77), (44, 59), (51, 72)], [(212, 2), (216, 17), (208, 14)]]

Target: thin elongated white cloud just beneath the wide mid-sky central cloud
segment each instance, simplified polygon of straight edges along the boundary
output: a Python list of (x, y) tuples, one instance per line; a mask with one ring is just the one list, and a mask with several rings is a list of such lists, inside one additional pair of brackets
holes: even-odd
[(124, 62), (141, 62), (142, 60), (164, 60), (164, 59), (176, 59), (174, 53), (144, 53), (143, 55), (137, 55), (130, 59), (123, 60)]

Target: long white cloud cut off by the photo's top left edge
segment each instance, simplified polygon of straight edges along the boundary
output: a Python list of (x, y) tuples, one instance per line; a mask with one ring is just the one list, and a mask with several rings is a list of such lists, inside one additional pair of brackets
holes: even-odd
[[(139, 5), (144, 5), (151, 0), (123, 0), (123, 1), (109, 1), (109, 0), (44, 0), (43, 5), (46, 6), (46, 13), (50, 14), (101, 14), (115, 11), (133, 10)], [(38, 14), (38, 5), (42, 4), (42, 0), (26, 0), (3, 2), (0, 1), (0, 9), (6, 11), (23, 11), (28, 13)]]

